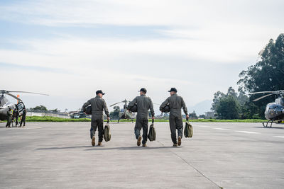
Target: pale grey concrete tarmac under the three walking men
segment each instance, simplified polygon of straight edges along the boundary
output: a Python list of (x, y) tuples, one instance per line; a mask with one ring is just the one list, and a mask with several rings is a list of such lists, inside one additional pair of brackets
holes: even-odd
[(165, 122), (148, 147), (131, 122), (111, 122), (103, 147), (90, 122), (26, 125), (0, 123), (0, 188), (284, 188), (284, 125), (193, 122), (181, 147)]

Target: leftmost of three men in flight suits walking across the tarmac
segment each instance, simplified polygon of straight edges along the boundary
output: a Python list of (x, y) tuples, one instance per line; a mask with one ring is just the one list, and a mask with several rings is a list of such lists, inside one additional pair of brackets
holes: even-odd
[[(84, 103), (82, 110), (85, 111), (88, 105), (92, 108), (92, 122), (91, 122), (91, 139), (92, 146), (95, 144), (95, 133), (97, 128), (99, 130), (99, 143), (98, 146), (102, 146), (103, 132), (104, 132), (104, 113), (107, 115), (107, 120), (109, 120), (109, 110), (107, 109), (107, 103), (104, 101), (102, 96), (104, 93), (102, 90), (96, 92), (96, 97), (91, 98), (87, 103)], [(103, 113), (104, 110), (104, 113)]]

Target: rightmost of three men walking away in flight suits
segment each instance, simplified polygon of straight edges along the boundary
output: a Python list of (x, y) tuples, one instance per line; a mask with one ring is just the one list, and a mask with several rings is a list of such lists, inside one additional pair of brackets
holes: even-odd
[[(170, 97), (168, 97), (162, 105), (160, 105), (160, 110), (165, 108), (166, 105), (170, 106), (170, 133), (173, 141), (173, 147), (178, 147), (182, 144), (182, 111), (186, 115), (186, 118), (189, 118), (187, 113), (187, 107), (185, 105), (185, 101), (181, 96), (178, 96), (178, 90), (176, 88), (170, 88)], [(177, 144), (177, 134), (176, 130), (178, 130), (178, 144)]]

